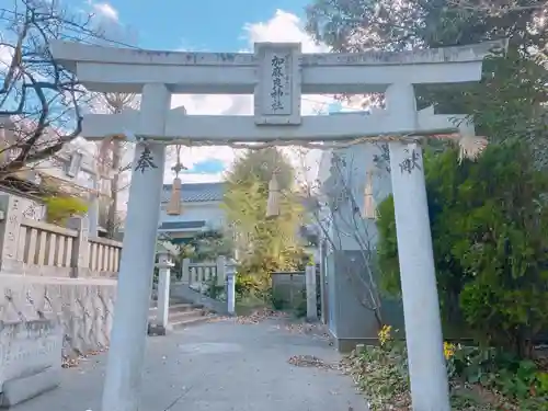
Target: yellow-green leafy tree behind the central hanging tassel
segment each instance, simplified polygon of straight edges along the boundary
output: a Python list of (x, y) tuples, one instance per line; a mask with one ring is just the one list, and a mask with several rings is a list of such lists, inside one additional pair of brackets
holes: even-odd
[[(279, 216), (269, 219), (269, 182), (274, 171), (283, 195)], [(294, 181), (293, 165), (275, 148), (250, 150), (235, 162), (227, 175), (225, 208), (239, 250), (239, 272), (267, 276), (297, 263), (302, 207), (293, 191)]]

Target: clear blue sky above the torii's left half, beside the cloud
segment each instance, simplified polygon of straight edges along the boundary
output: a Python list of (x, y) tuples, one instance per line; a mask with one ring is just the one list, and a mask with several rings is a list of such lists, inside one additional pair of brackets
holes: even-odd
[[(81, 0), (70, 0), (78, 3)], [(243, 27), (266, 22), (277, 10), (304, 18), (307, 0), (135, 0), (87, 1), (95, 12), (111, 9), (129, 37), (155, 49), (239, 50), (248, 45)], [(107, 16), (107, 15), (106, 15)], [(134, 34), (132, 34), (134, 33)]]

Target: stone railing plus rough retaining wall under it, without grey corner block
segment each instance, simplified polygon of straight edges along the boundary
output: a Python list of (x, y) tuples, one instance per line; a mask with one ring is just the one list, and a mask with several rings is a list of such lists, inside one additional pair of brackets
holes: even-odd
[(46, 224), (34, 206), (0, 193), (0, 321), (54, 320), (66, 356), (107, 346), (122, 243), (90, 238), (87, 218)]

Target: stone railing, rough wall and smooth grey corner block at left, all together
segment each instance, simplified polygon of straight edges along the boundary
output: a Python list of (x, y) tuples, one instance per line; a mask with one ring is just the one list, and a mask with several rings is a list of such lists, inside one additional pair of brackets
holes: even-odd
[(122, 243), (32, 206), (0, 193), (0, 408), (57, 387), (62, 357), (110, 345)]

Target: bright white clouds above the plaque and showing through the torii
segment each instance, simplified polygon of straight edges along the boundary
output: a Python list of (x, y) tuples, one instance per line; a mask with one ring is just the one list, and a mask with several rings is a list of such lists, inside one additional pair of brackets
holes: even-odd
[[(328, 52), (324, 45), (317, 45), (313, 39), (305, 32), (304, 24), (295, 14), (278, 10), (274, 16), (266, 22), (248, 23), (243, 27), (243, 38), (248, 45), (244, 52), (252, 52), (253, 43), (259, 42), (299, 42), (304, 53)], [(332, 102), (331, 96), (327, 95), (306, 95), (301, 102), (302, 114), (313, 114), (319, 110), (326, 110)], [(189, 115), (193, 114), (226, 114), (226, 115), (251, 115), (253, 113), (253, 99), (251, 95), (173, 95), (172, 106), (184, 105)], [(287, 149), (286, 152), (292, 153)], [(317, 150), (315, 150), (317, 151)], [(229, 147), (193, 147), (182, 149), (182, 162), (191, 168), (196, 162), (205, 159), (221, 160), (228, 168), (237, 153)], [(292, 156), (296, 163), (301, 163), (300, 159)], [(310, 153), (307, 156), (308, 167), (317, 165), (319, 155)], [(174, 157), (168, 162), (165, 170), (165, 182), (173, 179), (170, 168), (174, 163)], [(308, 173), (307, 173), (308, 174)], [(313, 174), (313, 172), (311, 173)], [(213, 181), (221, 180), (221, 174), (183, 174), (183, 182), (198, 182), (204, 179)], [(208, 180), (212, 181), (212, 180)]]

